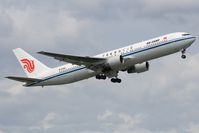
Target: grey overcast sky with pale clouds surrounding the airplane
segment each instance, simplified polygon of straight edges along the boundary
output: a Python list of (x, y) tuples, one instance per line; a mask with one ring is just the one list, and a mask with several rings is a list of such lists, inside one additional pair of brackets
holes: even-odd
[(150, 61), (121, 84), (94, 78), (25, 88), (12, 49), (91, 56), (159, 35), (198, 37), (198, 0), (0, 0), (0, 133), (198, 133), (199, 47)]

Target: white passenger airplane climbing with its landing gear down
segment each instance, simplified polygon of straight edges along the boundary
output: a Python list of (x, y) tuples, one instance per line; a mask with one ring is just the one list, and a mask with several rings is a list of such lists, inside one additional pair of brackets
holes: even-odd
[(126, 47), (108, 51), (96, 56), (73, 56), (40, 51), (39, 54), (53, 57), (67, 64), (49, 68), (21, 48), (13, 50), (27, 77), (8, 76), (6, 78), (24, 82), (23, 86), (50, 86), (77, 82), (95, 77), (111, 79), (113, 83), (121, 83), (119, 72), (142, 73), (149, 70), (149, 61), (181, 52), (185, 59), (185, 51), (196, 40), (186, 32), (176, 32), (147, 41), (131, 44)]

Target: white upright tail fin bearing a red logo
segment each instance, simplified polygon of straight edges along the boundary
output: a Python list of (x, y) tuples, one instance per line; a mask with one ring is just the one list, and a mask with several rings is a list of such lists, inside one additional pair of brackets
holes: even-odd
[(49, 67), (42, 64), (21, 48), (14, 49), (13, 52), (29, 78), (38, 78), (42, 73), (50, 70)]

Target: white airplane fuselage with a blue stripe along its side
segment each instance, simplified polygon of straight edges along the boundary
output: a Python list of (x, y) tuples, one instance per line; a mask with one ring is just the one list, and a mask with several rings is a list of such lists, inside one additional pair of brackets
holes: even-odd
[[(195, 41), (195, 37), (184, 32), (172, 33), (153, 38), (123, 48), (105, 52), (95, 57), (111, 58), (122, 55), (124, 63), (118, 66), (118, 70), (125, 70), (135, 64), (143, 63), (165, 55), (173, 54), (186, 49)], [(83, 79), (91, 78), (99, 73), (87, 69), (85, 66), (66, 64), (52, 69), (41, 75), (42, 81), (26, 86), (46, 86), (68, 84)]]

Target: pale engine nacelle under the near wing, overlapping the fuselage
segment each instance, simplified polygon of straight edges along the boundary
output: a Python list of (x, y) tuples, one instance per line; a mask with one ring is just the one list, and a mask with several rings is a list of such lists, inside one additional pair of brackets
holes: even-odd
[(111, 69), (117, 70), (122, 64), (124, 63), (123, 57), (120, 56), (113, 56), (107, 59), (107, 67)]

